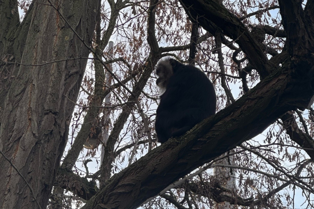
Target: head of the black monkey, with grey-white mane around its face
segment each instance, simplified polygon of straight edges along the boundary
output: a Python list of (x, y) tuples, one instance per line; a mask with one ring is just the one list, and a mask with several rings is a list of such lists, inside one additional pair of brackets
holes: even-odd
[(158, 76), (156, 84), (159, 87), (160, 91), (165, 91), (170, 77), (176, 70), (178, 61), (171, 58), (165, 57), (158, 61), (155, 67), (155, 74)]

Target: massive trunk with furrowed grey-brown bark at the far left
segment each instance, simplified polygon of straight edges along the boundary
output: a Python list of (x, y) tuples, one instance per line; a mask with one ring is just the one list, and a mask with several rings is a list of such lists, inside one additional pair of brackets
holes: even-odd
[[(87, 45), (95, 29), (97, 1), (52, 2)], [(8, 76), (0, 89), (0, 150), (19, 169), (46, 208), (67, 142), (69, 124), (89, 50), (49, 1), (34, 1), (18, 23), (17, 1), (0, 2), (0, 56)], [(16, 9), (16, 10), (14, 10)], [(4, 26), (4, 27), (2, 27)], [(38, 66), (40, 65), (40, 66)], [(74, 102), (73, 102), (74, 101)], [(30, 189), (0, 156), (0, 208), (38, 208)]]

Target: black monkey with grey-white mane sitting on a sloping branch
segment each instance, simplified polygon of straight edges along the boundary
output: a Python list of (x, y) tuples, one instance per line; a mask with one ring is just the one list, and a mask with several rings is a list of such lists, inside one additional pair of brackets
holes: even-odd
[(208, 77), (194, 65), (166, 57), (155, 67), (162, 92), (155, 130), (158, 142), (180, 136), (216, 112), (216, 93)]

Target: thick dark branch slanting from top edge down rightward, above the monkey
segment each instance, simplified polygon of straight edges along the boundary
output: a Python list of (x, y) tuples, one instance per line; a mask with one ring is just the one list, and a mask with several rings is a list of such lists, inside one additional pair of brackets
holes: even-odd
[(271, 64), (268, 62), (263, 49), (234, 14), (214, 0), (180, 0), (180, 2), (187, 15), (196, 20), (209, 33), (215, 34), (215, 28), (219, 28), (225, 35), (239, 44), (262, 78), (269, 75)]

